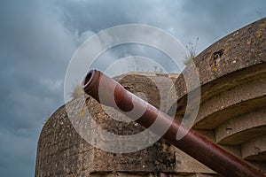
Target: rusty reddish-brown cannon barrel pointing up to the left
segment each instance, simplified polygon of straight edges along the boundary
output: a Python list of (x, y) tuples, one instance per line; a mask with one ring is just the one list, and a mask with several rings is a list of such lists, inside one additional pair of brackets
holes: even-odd
[[(253, 166), (246, 164), (242, 159), (223, 150), (195, 131), (184, 127), (175, 119), (171, 119), (166, 113), (157, 110), (153, 105), (137, 98), (104, 73), (97, 70), (90, 71), (83, 81), (83, 89), (85, 93), (94, 97), (100, 104), (112, 106), (120, 112), (130, 112), (136, 104), (137, 107), (145, 108), (143, 115), (135, 119), (137, 123), (148, 128), (153, 125), (156, 119), (160, 119), (161, 127), (168, 127), (168, 130), (162, 136), (165, 140), (222, 176), (265, 176)], [(177, 131), (184, 133), (184, 137), (180, 140), (176, 139)], [(160, 134), (160, 128), (158, 131), (153, 129), (153, 133)]]

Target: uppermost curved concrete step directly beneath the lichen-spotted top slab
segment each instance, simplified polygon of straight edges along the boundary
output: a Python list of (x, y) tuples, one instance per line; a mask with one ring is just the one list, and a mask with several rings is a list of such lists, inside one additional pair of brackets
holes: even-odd
[[(265, 74), (266, 76), (266, 74)], [(266, 78), (224, 90), (200, 105), (196, 129), (214, 129), (223, 122), (266, 105)]]

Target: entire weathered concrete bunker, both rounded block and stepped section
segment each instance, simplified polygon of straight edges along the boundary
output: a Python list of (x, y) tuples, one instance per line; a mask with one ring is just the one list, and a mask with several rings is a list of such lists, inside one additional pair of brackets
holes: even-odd
[[(194, 129), (246, 162), (266, 172), (266, 19), (243, 27), (215, 42), (194, 60), (200, 73), (201, 103)], [(191, 73), (190, 65), (184, 70)], [(151, 80), (151, 77), (153, 78)], [(153, 80), (175, 81), (178, 106), (176, 119), (182, 119), (186, 107), (183, 76), (149, 73), (117, 77), (133, 93), (143, 92), (144, 99), (161, 110), (160, 96)], [(161, 84), (162, 86), (164, 84)], [(167, 94), (167, 93), (165, 93)], [(171, 95), (172, 96), (172, 95)], [(73, 100), (72, 112), (79, 100)], [(134, 123), (111, 119), (93, 99), (84, 104), (98, 126), (117, 135), (143, 131)], [(81, 105), (82, 106), (82, 105)], [(166, 110), (168, 111), (168, 110)], [(259, 127), (259, 128), (257, 128)], [(262, 129), (261, 129), (262, 128)], [(145, 140), (142, 140), (145, 141)], [(224, 145), (226, 144), (226, 145)], [(114, 154), (92, 147), (78, 135), (62, 106), (43, 127), (38, 142), (36, 177), (43, 176), (215, 176), (215, 173), (180, 150), (159, 141), (152, 147), (128, 154)]]

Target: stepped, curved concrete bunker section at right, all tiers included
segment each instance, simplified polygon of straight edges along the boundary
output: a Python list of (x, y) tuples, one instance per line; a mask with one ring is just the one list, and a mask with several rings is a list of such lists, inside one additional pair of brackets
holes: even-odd
[[(215, 42), (194, 63), (200, 73), (201, 103), (193, 128), (214, 131), (216, 143), (239, 149), (242, 158), (265, 172), (261, 137), (266, 135), (266, 19)], [(184, 73), (192, 73), (191, 67)], [(180, 119), (187, 99), (183, 75), (175, 85)]]

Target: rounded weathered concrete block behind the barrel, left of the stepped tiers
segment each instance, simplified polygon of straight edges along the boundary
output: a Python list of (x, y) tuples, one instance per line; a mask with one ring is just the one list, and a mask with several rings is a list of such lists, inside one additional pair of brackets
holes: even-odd
[[(159, 94), (159, 86), (156, 86), (153, 80), (159, 81), (162, 87), (160, 89), (164, 89), (167, 78), (168, 75), (165, 74), (135, 73), (116, 79), (131, 92), (142, 92), (146, 101), (160, 108), (160, 100), (164, 102), (164, 99), (161, 99), (163, 96)], [(175, 78), (170, 78), (172, 79)], [(110, 118), (93, 98), (87, 96), (86, 103), (80, 102), (79, 99), (81, 98), (68, 103), (73, 109), (67, 110), (74, 112), (78, 119), (82, 110), (75, 110), (75, 107), (83, 107), (77, 104), (85, 104), (98, 126), (113, 134), (132, 135), (143, 131), (143, 127), (136, 123), (120, 122)], [(213, 132), (201, 132), (215, 139)], [(201, 176), (215, 176), (215, 173), (205, 165), (162, 140), (145, 150), (127, 154), (94, 148), (76, 133), (67, 117), (66, 107), (62, 106), (43, 127), (38, 142), (35, 176), (197, 176), (200, 173)]]

